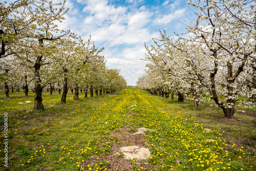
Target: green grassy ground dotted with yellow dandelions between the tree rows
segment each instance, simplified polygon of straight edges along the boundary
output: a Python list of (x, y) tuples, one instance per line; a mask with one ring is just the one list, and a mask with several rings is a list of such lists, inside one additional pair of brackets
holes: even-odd
[[(210, 103), (194, 108), (145, 91), (83, 98), (60, 104), (58, 94), (43, 96), (45, 111), (33, 111), (33, 94), (0, 94), (0, 124), (8, 113), (9, 170), (255, 170), (254, 110), (223, 118)], [(19, 102), (23, 102), (19, 104)], [(136, 105), (134, 105), (136, 104)], [(245, 111), (245, 112), (242, 112)], [(154, 131), (134, 136), (140, 127)], [(211, 131), (207, 132), (205, 128)], [(4, 165), (0, 138), (0, 170)], [(214, 140), (214, 141), (209, 141)], [(122, 146), (150, 148), (147, 160), (125, 160)]]

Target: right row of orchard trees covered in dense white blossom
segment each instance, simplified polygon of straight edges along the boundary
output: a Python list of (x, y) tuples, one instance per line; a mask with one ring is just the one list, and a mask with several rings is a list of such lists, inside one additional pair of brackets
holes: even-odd
[(150, 63), (138, 86), (152, 94), (177, 94), (180, 102), (191, 94), (195, 107), (200, 100), (214, 100), (226, 118), (233, 118), (241, 98), (241, 104), (255, 107), (255, 1), (187, 4), (197, 8), (196, 22), (178, 38), (164, 31), (155, 46), (145, 46), (144, 60)]

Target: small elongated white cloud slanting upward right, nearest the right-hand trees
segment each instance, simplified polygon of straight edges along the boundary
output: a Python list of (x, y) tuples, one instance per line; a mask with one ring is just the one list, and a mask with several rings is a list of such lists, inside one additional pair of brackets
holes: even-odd
[(172, 20), (179, 19), (179, 18), (183, 17), (184, 15), (185, 15), (185, 9), (179, 9), (179, 10), (176, 10), (174, 13), (170, 13), (168, 15), (164, 15), (161, 18), (155, 19), (154, 23), (166, 25), (166, 24), (172, 22)]

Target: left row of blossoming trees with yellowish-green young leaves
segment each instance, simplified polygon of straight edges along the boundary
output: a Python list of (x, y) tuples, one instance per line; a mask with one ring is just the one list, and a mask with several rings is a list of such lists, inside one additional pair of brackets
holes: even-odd
[(84, 42), (70, 30), (58, 29), (68, 9), (47, 0), (18, 0), (0, 4), (0, 88), (9, 97), (10, 89), (35, 92), (35, 110), (44, 110), (43, 89), (68, 89), (95, 94), (114, 92), (126, 87), (120, 70), (109, 69), (91, 37)]

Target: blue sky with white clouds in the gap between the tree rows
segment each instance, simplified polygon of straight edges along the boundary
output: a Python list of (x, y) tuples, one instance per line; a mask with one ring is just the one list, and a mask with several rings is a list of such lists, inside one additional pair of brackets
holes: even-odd
[(153, 45), (159, 30), (173, 37), (185, 32), (184, 24), (196, 19), (195, 9), (185, 1), (175, 0), (67, 0), (65, 20), (59, 29), (70, 29), (92, 40), (106, 59), (109, 68), (121, 70), (128, 85), (136, 81), (145, 69), (144, 42)]

